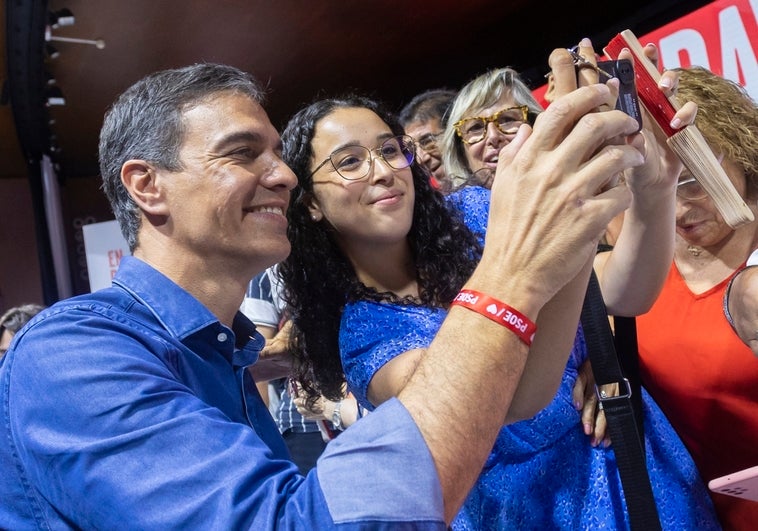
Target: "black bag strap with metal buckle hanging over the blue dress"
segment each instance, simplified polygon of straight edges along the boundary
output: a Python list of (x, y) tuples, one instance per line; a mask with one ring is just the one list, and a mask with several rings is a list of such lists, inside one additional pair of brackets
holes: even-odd
[[(616, 355), (608, 312), (594, 271), (582, 306), (582, 328), (598, 399), (605, 412), (608, 433), (616, 455), (630, 527), (632, 531), (660, 530), (658, 508), (647, 472), (643, 431), (632, 405), (632, 387), (624, 377)], [(599, 391), (600, 386), (610, 383), (618, 383), (619, 396), (606, 397)], [(640, 395), (639, 392), (635, 394)]]

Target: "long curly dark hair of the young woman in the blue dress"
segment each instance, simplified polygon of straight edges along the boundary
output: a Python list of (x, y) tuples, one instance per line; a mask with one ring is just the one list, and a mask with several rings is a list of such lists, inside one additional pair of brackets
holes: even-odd
[(411, 165), (416, 192), (408, 241), (416, 264), (419, 297), (400, 299), (378, 293), (358, 280), (347, 256), (337, 245), (327, 220), (313, 221), (307, 201), (313, 191), (311, 141), (319, 120), (339, 108), (366, 108), (375, 112), (397, 135), (403, 129), (378, 102), (350, 94), (312, 103), (289, 121), (282, 133), (283, 159), (298, 177), (287, 217), (292, 244), (280, 264), (284, 299), (294, 322), (290, 344), (295, 378), (309, 397), (342, 397), (345, 377), (339, 355), (339, 328), (347, 302), (391, 301), (446, 307), (481, 257), (481, 247), (462, 217), (432, 188), (426, 171)]

